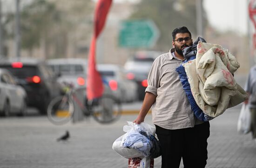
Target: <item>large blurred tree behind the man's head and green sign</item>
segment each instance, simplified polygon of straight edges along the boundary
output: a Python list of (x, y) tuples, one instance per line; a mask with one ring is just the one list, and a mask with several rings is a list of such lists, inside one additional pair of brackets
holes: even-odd
[[(196, 0), (141, 0), (129, 19), (152, 19), (160, 31), (155, 50), (172, 48), (171, 32), (176, 27), (187, 26), (196, 35)], [(205, 13), (205, 11), (203, 11)], [(207, 25), (203, 14), (203, 28)]]

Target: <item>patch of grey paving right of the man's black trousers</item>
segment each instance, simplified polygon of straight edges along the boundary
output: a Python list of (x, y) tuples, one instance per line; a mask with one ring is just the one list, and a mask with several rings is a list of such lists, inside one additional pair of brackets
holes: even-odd
[(236, 131), (241, 106), (210, 121), (207, 168), (256, 168), (256, 143)]

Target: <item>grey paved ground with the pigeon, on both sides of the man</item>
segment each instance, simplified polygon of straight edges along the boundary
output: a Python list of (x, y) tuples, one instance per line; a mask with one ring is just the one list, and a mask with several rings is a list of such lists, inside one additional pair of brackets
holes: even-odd
[[(210, 121), (209, 159), (206, 168), (256, 168), (256, 144), (250, 134), (240, 135), (236, 123), (240, 106)], [(101, 125), (92, 118), (77, 124), (51, 124), (45, 116), (0, 118), (0, 168), (127, 168), (128, 159), (112, 149), (126, 121)], [(151, 123), (151, 115), (145, 120)], [(56, 142), (68, 130), (68, 142)], [(183, 166), (181, 165), (181, 168)], [(161, 168), (161, 157), (155, 159)]]

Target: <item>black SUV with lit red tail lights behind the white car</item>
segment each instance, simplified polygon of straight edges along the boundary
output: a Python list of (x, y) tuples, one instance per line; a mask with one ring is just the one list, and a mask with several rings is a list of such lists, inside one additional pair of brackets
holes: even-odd
[(15, 76), (16, 82), (27, 92), (27, 106), (36, 107), (41, 114), (46, 114), (49, 101), (61, 94), (56, 76), (43, 60), (1, 60), (0, 68), (6, 68)]

